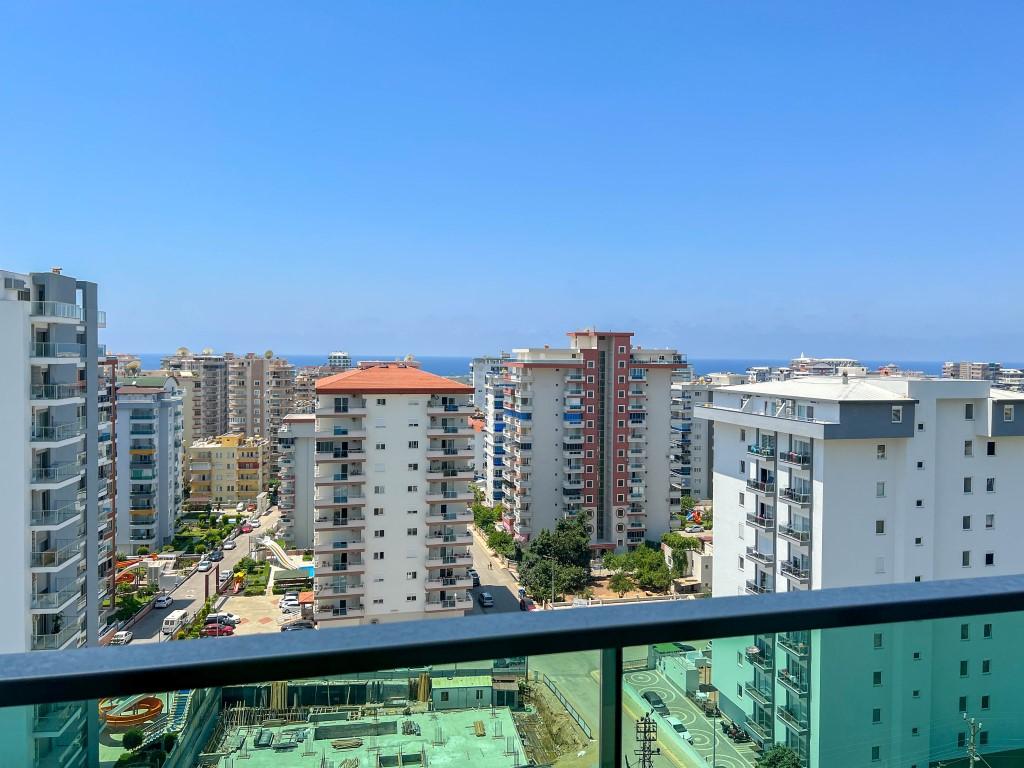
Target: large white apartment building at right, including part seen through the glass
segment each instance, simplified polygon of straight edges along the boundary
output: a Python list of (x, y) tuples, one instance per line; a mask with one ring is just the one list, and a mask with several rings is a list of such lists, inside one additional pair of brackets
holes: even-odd
[[(714, 595), (1020, 572), (1024, 395), (984, 381), (807, 378), (718, 389)], [(723, 713), (815, 768), (1016, 748), (1013, 615), (715, 641)], [(994, 638), (994, 639), (993, 639)], [(991, 710), (986, 712), (986, 710)]]

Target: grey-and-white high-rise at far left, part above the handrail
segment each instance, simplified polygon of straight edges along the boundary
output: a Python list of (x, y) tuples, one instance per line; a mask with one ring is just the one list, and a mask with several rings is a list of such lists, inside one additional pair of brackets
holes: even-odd
[[(96, 645), (112, 629), (114, 403), (96, 285), (0, 271), (0, 650)], [(113, 368), (116, 360), (112, 358)], [(43, 737), (42, 735), (40, 736)]]

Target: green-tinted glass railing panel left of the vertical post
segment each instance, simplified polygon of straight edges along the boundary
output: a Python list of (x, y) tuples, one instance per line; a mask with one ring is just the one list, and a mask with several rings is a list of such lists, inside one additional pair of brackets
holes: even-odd
[(598, 663), (597, 651), (513, 656), (9, 707), (0, 745), (4, 765), (40, 768), (591, 768)]

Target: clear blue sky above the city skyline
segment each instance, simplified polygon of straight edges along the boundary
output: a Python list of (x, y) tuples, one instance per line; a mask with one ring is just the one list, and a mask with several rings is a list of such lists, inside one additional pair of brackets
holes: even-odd
[(1019, 359), (1022, 29), (1020, 2), (8, 2), (0, 265), (98, 282), (119, 350), (598, 325)]

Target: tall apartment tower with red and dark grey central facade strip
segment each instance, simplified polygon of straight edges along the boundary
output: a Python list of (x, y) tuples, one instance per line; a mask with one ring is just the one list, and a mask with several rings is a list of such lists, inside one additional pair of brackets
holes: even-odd
[[(504, 389), (504, 524), (526, 542), (585, 515), (595, 550), (657, 539), (679, 506), (670, 407), (685, 360), (674, 349), (634, 347), (632, 333), (568, 336), (564, 349), (514, 349), (495, 382)], [(497, 414), (487, 421), (493, 429)], [(486, 445), (495, 450), (494, 435)]]

